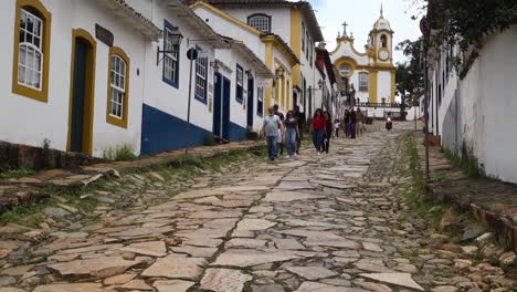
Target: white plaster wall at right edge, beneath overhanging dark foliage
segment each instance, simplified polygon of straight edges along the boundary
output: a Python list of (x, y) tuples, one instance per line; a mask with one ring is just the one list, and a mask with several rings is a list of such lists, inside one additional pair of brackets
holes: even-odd
[[(479, 161), (485, 171), (505, 181), (517, 182), (517, 25), (489, 38), (479, 53), (479, 102), (483, 132), (477, 132)], [(469, 98), (464, 95), (463, 100)]]

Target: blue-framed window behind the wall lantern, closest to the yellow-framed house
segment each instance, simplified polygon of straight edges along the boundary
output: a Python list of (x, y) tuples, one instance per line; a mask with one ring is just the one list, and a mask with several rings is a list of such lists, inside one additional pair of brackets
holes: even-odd
[(163, 20), (163, 50), (173, 51), (172, 53), (163, 54), (163, 70), (162, 80), (167, 84), (178, 88), (179, 87), (179, 64), (180, 64), (180, 49), (173, 48), (171, 34), (178, 30), (177, 27)]

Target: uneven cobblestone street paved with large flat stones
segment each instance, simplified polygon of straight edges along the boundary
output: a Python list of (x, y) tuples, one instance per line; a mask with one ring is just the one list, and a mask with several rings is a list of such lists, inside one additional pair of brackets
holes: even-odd
[(1, 227), (12, 252), (0, 292), (511, 291), (500, 268), (475, 258), (483, 238), (458, 244), (408, 210), (400, 127), (182, 186), (168, 173), (123, 176), (95, 194), (94, 216), (46, 209), (55, 223), (44, 240)]

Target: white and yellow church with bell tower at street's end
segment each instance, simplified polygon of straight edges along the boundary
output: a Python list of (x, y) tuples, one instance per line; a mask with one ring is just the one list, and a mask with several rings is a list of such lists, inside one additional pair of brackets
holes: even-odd
[(354, 35), (347, 33), (347, 23), (344, 27), (342, 35), (338, 34), (336, 50), (330, 52), (339, 77), (356, 91), (356, 100), (359, 98), (360, 103), (395, 103), (394, 31), (384, 19), (382, 8), (362, 53), (355, 48)]

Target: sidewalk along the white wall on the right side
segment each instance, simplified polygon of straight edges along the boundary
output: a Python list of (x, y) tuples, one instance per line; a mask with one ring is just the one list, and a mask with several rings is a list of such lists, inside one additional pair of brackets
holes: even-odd
[[(423, 134), (419, 134), (419, 156), (425, 171)], [(490, 178), (471, 178), (444, 157), (441, 148), (430, 147), (428, 191), (444, 202), (457, 204), (475, 220), (493, 229), (497, 240), (517, 251), (517, 185)]]

